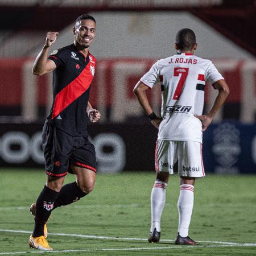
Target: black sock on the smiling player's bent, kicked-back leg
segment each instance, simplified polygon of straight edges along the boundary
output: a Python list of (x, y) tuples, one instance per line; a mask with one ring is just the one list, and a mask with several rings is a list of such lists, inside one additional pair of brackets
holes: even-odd
[(86, 195), (85, 192), (81, 191), (76, 182), (66, 184), (61, 188), (61, 191), (55, 200), (53, 209), (60, 207), (61, 205), (74, 203)]

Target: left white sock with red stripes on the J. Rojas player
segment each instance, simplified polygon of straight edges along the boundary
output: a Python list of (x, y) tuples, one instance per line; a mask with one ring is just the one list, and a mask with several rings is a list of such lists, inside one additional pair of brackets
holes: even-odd
[(156, 180), (152, 188), (150, 232), (153, 232), (155, 228), (157, 232), (161, 231), (160, 221), (164, 205), (166, 204), (166, 187), (167, 183)]

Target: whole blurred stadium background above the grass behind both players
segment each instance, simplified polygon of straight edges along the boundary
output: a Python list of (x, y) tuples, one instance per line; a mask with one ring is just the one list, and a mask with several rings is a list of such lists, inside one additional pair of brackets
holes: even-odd
[[(212, 59), (230, 87), (224, 108), (204, 134), (205, 170), (256, 174), (256, 1), (1, 0), (0, 166), (42, 167), (40, 133), (51, 107), (52, 76), (32, 75), (47, 31), (54, 49), (73, 42), (77, 16), (96, 18), (90, 52), (97, 59), (90, 101), (102, 119), (89, 126), (100, 172), (154, 170), (157, 131), (133, 95), (151, 65), (175, 53), (176, 32), (192, 28), (196, 55)], [(151, 92), (156, 112), (160, 92)], [(205, 110), (216, 92), (205, 92)]]

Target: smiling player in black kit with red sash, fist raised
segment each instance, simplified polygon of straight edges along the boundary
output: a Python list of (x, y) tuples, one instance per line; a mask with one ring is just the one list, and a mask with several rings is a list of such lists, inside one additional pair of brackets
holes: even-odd
[[(101, 116), (88, 101), (96, 67), (89, 47), (95, 33), (95, 19), (81, 15), (73, 27), (74, 43), (49, 55), (59, 33), (48, 32), (34, 63), (34, 75), (53, 72), (53, 104), (42, 134), (47, 181), (30, 208), (35, 226), (28, 242), (35, 249), (52, 250), (46, 240), (51, 211), (79, 200), (94, 188), (96, 156), (86, 131), (86, 115), (91, 122), (97, 122)], [(63, 186), (68, 172), (75, 174), (76, 181)]]

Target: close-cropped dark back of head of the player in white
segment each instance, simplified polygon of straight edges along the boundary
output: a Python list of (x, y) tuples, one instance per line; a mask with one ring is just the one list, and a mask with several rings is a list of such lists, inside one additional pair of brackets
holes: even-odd
[(196, 44), (196, 35), (193, 30), (183, 28), (177, 32), (175, 43), (181, 50), (191, 50)]

